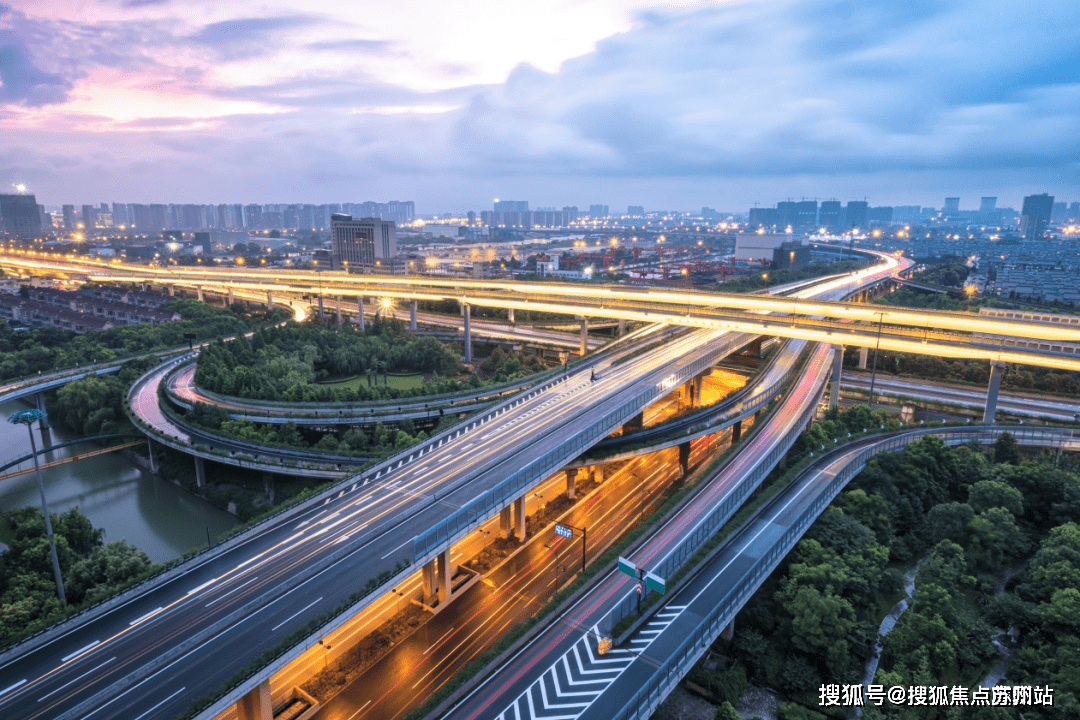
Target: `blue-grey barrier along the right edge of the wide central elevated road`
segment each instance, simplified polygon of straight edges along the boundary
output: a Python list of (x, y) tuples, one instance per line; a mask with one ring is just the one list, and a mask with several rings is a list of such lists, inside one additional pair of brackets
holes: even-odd
[(413, 540), (414, 562), (420, 561), (421, 557), (428, 555), (434, 548), (442, 546), (444, 543), (457, 540), (465, 531), (478, 526), (486, 518), (490, 517), (496, 510), (516, 499), (516, 495), (522, 493), (526, 488), (542, 481), (551, 473), (565, 465), (576, 454), (594, 445), (594, 440), (597, 437), (608, 435), (615, 427), (618, 427), (637, 415), (642, 408), (647, 407), (653, 399), (671, 392), (685, 382), (687, 378), (693, 377), (702, 369), (712, 366), (719, 356), (730, 353), (744, 342), (745, 339), (742, 334), (723, 338), (717, 347), (705, 355), (669, 375), (652, 388), (624, 402), (599, 420), (590, 423), (575, 433), (572, 437), (564, 440), (555, 449), (545, 452), (525, 467), (501, 480), (490, 490), (487, 490), (463, 505), (449, 517), (420, 533)]

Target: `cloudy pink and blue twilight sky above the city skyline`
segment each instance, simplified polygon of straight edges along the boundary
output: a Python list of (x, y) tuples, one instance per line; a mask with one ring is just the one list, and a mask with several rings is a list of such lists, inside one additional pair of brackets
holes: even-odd
[(0, 192), (1080, 200), (1076, 0), (0, 0)]

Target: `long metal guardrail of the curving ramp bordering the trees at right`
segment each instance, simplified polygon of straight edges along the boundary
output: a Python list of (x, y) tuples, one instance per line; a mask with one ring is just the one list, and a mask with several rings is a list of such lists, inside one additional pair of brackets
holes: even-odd
[[(910, 443), (928, 435), (942, 437), (947, 445), (962, 445), (964, 443), (977, 441), (989, 444), (997, 439), (1001, 433), (1009, 432), (1016, 437), (1021, 445), (1057, 445), (1066, 444), (1076, 446), (1078, 439), (1075, 430), (1052, 431), (1048, 429), (1015, 429), (1001, 426), (983, 427), (941, 427), (923, 429), (906, 432), (876, 443), (868, 448), (854, 454), (836, 477), (818, 494), (818, 497), (807, 505), (799, 514), (794, 524), (780, 536), (777, 543), (768, 553), (759, 557), (743, 575), (743, 581), (735, 583), (732, 589), (702, 617), (698, 627), (687, 634), (683, 643), (657, 668), (652, 677), (646, 682), (613, 717), (615, 720), (632, 720), (633, 718), (648, 718), (674, 689), (683, 677), (689, 673), (694, 663), (704, 654), (705, 650), (715, 642), (720, 633), (734, 619), (742, 608), (746, 598), (757, 592), (761, 582), (775, 569), (780, 561), (791, 552), (806, 532), (807, 528), (813, 524), (825, 507), (833, 502), (840, 490), (862, 470), (867, 462), (882, 452), (893, 452), (902, 450)], [(1067, 435), (1066, 435), (1067, 432)], [(839, 450), (839, 451), (842, 451)], [(829, 453), (822, 459), (828, 463), (835, 458)], [(806, 473), (816, 472), (821, 463), (807, 468)], [(806, 474), (804, 474), (804, 477)]]

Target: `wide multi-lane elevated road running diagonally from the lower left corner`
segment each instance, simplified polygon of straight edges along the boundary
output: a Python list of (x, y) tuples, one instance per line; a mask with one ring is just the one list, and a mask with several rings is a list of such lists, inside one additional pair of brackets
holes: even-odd
[[(854, 283), (874, 280), (868, 273)], [(825, 285), (825, 293), (850, 289)], [(451, 593), (445, 578), (448, 547), (486, 520), (477, 514), (481, 507), (496, 503), (492, 507), (507, 525), (521, 528), (531, 483), (546, 478), (658, 394), (746, 339), (696, 330), (615, 365), (620, 353), (642, 350), (635, 341), (647, 347), (647, 336), (630, 338), (583, 369), (338, 485), (117, 598), (84, 622), (62, 625), (5, 653), (0, 660), (0, 711), (12, 718), (175, 715), (315, 615), (342, 601), (351, 602), (350, 613), (375, 601), (350, 600), (350, 587), (333, 576), (364, 579), (386, 569), (388, 583), (396, 584), (422, 566), (428, 569), (426, 593), (445, 597)], [(820, 392), (831, 352), (816, 351), (811, 375), (818, 388), (804, 388), (800, 402)], [(590, 365), (599, 370), (600, 380), (589, 381)], [(808, 419), (805, 408), (778, 417), (789, 425), (783, 437), (791, 434), (792, 439), (799, 422)], [(516, 440), (526, 426), (534, 441), (519, 446)], [(755, 449), (767, 450), (761, 457), (775, 461), (778, 448)], [(453, 476), (441, 471), (447, 466), (455, 467)], [(401, 560), (410, 567), (400, 569)], [(240, 699), (258, 704), (260, 679), (313, 643), (309, 639), (284, 652), (204, 715)], [(213, 677), (205, 673), (208, 666), (217, 670)], [(253, 689), (254, 695), (248, 692)]]

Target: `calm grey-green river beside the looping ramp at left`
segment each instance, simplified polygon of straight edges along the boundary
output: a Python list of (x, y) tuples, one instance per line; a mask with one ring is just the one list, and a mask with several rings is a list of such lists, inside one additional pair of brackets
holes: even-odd
[[(8, 418), (27, 405), (13, 400), (0, 404), (0, 464), (29, 454), (30, 438), (24, 425), (13, 425)], [(33, 424), (38, 448), (42, 437)], [(55, 425), (46, 431), (50, 444), (59, 444), (78, 435)], [(43, 456), (42, 462), (67, 458), (96, 446), (75, 445)], [(27, 461), (25, 475), (0, 481), (0, 508), (4, 511), (41, 506), (33, 465)], [(9, 471), (10, 472), (10, 471)], [(145, 552), (154, 562), (171, 560), (185, 551), (206, 544), (206, 532), (215, 536), (239, 521), (186, 490), (143, 470), (119, 452), (79, 460), (41, 472), (45, 497), (53, 513), (70, 507), (79, 510), (95, 527), (105, 529), (105, 542), (126, 540)]]

